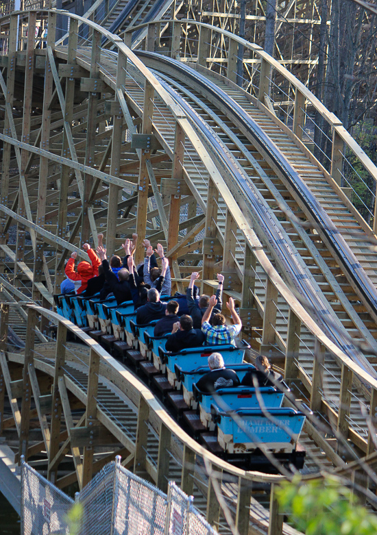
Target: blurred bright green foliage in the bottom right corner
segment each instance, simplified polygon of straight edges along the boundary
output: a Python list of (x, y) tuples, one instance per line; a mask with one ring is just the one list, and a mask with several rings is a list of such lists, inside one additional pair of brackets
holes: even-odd
[(276, 489), (284, 514), (306, 535), (376, 535), (377, 517), (355, 503), (335, 477), (303, 483), (300, 476)]

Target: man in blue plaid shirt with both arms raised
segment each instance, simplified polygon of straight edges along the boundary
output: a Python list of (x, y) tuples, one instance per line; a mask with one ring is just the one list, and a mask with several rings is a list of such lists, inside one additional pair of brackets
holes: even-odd
[(208, 308), (202, 319), (202, 331), (206, 335), (206, 345), (236, 345), (234, 338), (241, 332), (242, 322), (234, 308), (234, 299), (230, 297), (228, 303), (226, 303), (226, 307), (232, 316), (234, 325), (226, 325), (226, 318), (223, 314), (215, 314), (215, 316), (212, 317), (212, 325), (210, 325), (209, 319), (216, 301), (216, 296), (212, 295), (210, 297)]

